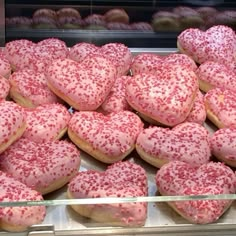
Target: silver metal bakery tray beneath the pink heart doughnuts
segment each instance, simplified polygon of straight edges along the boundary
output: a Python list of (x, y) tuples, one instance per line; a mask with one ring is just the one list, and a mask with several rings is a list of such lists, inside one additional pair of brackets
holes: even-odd
[[(146, 49), (131, 48), (133, 55), (139, 53), (157, 53), (167, 55), (176, 52), (177, 49)], [(208, 121), (204, 126), (211, 132), (216, 128)], [(235, 235), (236, 232), (236, 201), (230, 209), (213, 224), (195, 225), (191, 224), (179, 216), (167, 201), (198, 200), (198, 199), (236, 199), (236, 194), (215, 195), (215, 196), (158, 196), (155, 185), (155, 175), (157, 168), (144, 162), (135, 151), (125, 160), (129, 160), (141, 165), (147, 172), (148, 177), (148, 197), (137, 198), (97, 198), (97, 199), (67, 199), (67, 187), (63, 187), (53, 193), (44, 196), (45, 201), (39, 202), (2, 202), (0, 207), (20, 206), (20, 205), (46, 205), (47, 214), (42, 224), (33, 225), (27, 232), (8, 233), (0, 232), (7, 236), (53, 236), (53, 235)], [(84, 170), (105, 170), (107, 164), (101, 163), (88, 154), (81, 152), (80, 171)], [(148, 215), (143, 227), (110, 227), (109, 225), (96, 223), (88, 218), (75, 213), (69, 205), (71, 204), (98, 204), (145, 201), (148, 203)]]

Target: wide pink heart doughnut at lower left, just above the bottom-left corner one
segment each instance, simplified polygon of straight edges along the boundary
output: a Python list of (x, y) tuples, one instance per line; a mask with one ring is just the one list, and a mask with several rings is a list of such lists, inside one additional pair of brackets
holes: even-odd
[(80, 153), (67, 141), (35, 143), (21, 138), (0, 158), (0, 168), (36, 191), (47, 194), (78, 172)]

